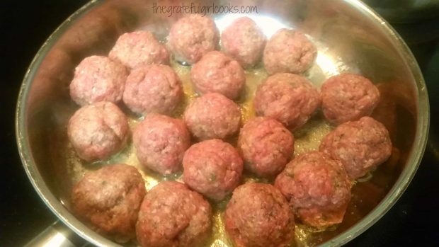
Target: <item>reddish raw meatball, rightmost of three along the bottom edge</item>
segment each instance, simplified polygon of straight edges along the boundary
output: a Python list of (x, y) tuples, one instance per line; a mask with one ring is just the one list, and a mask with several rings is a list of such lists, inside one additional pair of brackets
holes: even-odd
[(233, 192), (225, 228), (237, 247), (287, 246), (295, 222), (288, 202), (273, 185), (246, 183)]

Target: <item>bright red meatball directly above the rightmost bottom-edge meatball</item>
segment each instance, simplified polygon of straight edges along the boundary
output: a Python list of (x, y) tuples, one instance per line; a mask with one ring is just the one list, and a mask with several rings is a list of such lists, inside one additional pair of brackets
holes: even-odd
[(255, 117), (241, 128), (238, 147), (247, 170), (261, 177), (272, 177), (290, 161), (294, 137), (277, 120)]

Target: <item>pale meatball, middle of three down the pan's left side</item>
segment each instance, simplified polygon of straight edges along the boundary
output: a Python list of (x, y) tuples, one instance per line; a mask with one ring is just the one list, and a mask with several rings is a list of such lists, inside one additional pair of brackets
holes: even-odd
[(85, 161), (103, 160), (117, 153), (125, 146), (129, 132), (125, 114), (106, 101), (83, 106), (67, 127), (76, 154)]

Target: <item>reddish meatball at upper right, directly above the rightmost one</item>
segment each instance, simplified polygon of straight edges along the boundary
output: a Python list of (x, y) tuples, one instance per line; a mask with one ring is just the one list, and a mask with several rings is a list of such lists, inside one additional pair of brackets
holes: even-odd
[(332, 76), (321, 86), (321, 108), (336, 125), (370, 115), (379, 101), (378, 88), (357, 74)]

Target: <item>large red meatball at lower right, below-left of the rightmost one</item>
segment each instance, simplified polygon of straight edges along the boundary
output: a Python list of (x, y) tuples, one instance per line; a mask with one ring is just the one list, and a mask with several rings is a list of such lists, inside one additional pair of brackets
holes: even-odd
[(317, 228), (341, 223), (350, 201), (350, 180), (343, 166), (318, 151), (288, 163), (275, 187), (304, 224)]

